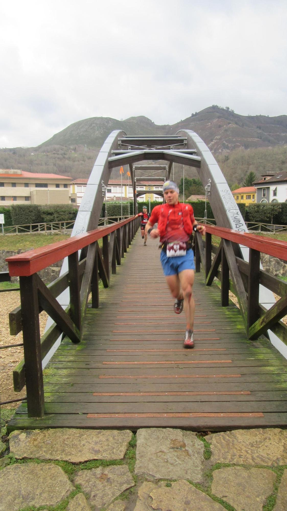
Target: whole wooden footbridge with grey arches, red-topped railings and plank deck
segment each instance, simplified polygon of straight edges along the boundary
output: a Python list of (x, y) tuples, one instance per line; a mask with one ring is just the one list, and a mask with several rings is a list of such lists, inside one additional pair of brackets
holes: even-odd
[[(260, 269), (259, 257), (265, 252), (286, 261), (287, 244), (246, 232), (196, 134), (109, 138), (72, 237), (8, 260), (21, 295), (10, 329), (22, 330), (25, 356), (14, 370), (14, 388), (27, 388), (9, 429), (286, 427), (287, 328), (280, 319), (287, 284)], [(175, 151), (176, 143), (182, 149)], [(129, 164), (136, 208), (134, 162), (145, 159), (168, 161), (163, 179), (173, 161), (196, 166), (217, 220), (206, 226), (204, 240), (195, 238), (193, 350), (182, 347), (184, 314), (173, 312), (158, 243), (143, 246), (139, 217), (97, 228), (111, 169)], [(60, 277), (45, 286), (37, 272), (63, 258)], [(40, 338), (42, 310), (51, 319)]]

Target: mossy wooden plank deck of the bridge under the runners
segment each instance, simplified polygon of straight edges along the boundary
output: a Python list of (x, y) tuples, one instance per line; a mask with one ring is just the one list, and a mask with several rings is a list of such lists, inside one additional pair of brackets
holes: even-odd
[(196, 274), (195, 348), (162, 274), (157, 241), (138, 233), (122, 266), (87, 309), (83, 340), (67, 338), (44, 371), (45, 415), (17, 428), (286, 427), (287, 361), (267, 338), (247, 340), (239, 310)]

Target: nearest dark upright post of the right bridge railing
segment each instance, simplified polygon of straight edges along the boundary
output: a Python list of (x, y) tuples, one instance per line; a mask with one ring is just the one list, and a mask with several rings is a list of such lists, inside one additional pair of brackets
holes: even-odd
[(255, 321), (260, 317), (259, 313), (259, 272), (260, 252), (249, 249), (249, 274), (248, 274), (248, 304), (247, 304), (247, 333)]

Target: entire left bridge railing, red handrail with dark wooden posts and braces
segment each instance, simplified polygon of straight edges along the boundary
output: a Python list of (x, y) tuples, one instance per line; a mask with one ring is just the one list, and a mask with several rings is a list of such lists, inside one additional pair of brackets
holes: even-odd
[[(6, 259), (10, 275), (19, 276), (20, 285), (21, 305), (9, 314), (10, 334), (22, 331), (23, 335), (24, 359), (13, 371), (14, 390), (20, 391), (26, 385), (29, 416), (44, 414), (42, 360), (61, 334), (74, 343), (81, 341), (90, 291), (91, 306), (98, 308), (99, 277), (104, 287), (109, 287), (110, 275), (116, 273), (116, 265), (121, 264), (139, 223), (140, 217), (131, 217)], [(65, 257), (68, 271), (45, 286), (37, 272)], [(70, 303), (64, 310), (56, 298), (66, 288), (69, 288)], [(40, 337), (42, 310), (54, 323)]]

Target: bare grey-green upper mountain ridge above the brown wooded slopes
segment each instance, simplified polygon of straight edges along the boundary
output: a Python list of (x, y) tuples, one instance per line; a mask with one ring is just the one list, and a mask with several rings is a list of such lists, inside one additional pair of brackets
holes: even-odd
[(171, 126), (156, 125), (143, 116), (121, 121), (107, 117), (92, 117), (71, 124), (39, 147), (86, 144), (87, 147), (98, 149), (114, 129), (122, 129), (127, 135), (170, 135), (186, 128), (196, 131), (214, 154), (239, 148), (287, 144), (287, 115), (246, 117), (230, 109), (213, 105)]

